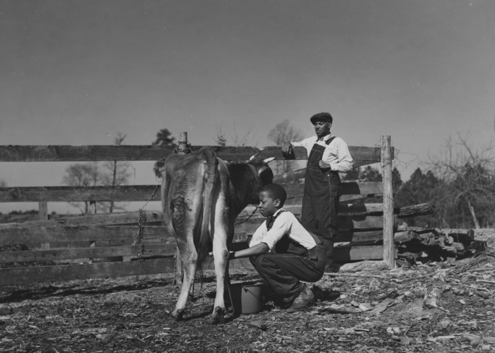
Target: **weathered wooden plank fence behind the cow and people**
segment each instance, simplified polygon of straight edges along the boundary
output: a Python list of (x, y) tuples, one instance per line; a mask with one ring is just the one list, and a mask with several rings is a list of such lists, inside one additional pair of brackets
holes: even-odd
[[(390, 137), (383, 136), (381, 147), (350, 146), (355, 166), (381, 163), (383, 182), (344, 182), (343, 195), (338, 216), (340, 232), (337, 242), (368, 243), (383, 240), (384, 245), (341, 246), (335, 249), (337, 261), (384, 259), (390, 268), (394, 266), (395, 251), (393, 233), (401, 217), (417, 214), (415, 208), (393, 209), (391, 198), (391, 160), (393, 148)], [(193, 150), (201, 146), (192, 146)], [(224, 160), (248, 160), (258, 153), (262, 158), (285, 159), (280, 147), (220, 147), (216, 154)], [(174, 146), (28, 146), (0, 145), (0, 162), (54, 162), (54, 161), (156, 161), (173, 153)], [(295, 147), (287, 159), (306, 160), (303, 147)], [(389, 174), (387, 174), (389, 169)], [(150, 170), (150, 173), (152, 171)], [(390, 177), (388, 177), (390, 175)], [(301, 213), (297, 200), (303, 195), (304, 184), (283, 183), (287, 190), (287, 209), (295, 215)], [(134, 276), (170, 273), (175, 271), (175, 239), (166, 234), (161, 226), (161, 212), (147, 212), (144, 228), (145, 261), (136, 260), (140, 246), (135, 244), (137, 235), (137, 212), (121, 214), (85, 215), (48, 220), (46, 203), (54, 201), (146, 201), (156, 185), (93, 186), (93, 187), (7, 187), (0, 188), (0, 202), (38, 202), (41, 219), (25, 223), (0, 224), (0, 245), (27, 244), (29, 250), (2, 251), (0, 263), (54, 261), (51, 266), (33, 266), (0, 269), (0, 285), (44, 282), (54, 280), (90, 279), (119, 276)], [(159, 200), (157, 192), (153, 200)], [(383, 204), (353, 204), (354, 200), (374, 196), (385, 196)], [(250, 206), (238, 219), (251, 213)], [(419, 211), (421, 212), (421, 211)], [(261, 215), (252, 217), (235, 228), (234, 241), (244, 240), (263, 221)], [(387, 238), (388, 237), (388, 238)], [(69, 248), (50, 248), (46, 244), (67, 242)], [(86, 244), (85, 247), (70, 247), (70, 244)], [(33, 244), (45, 244), (33, 246)], [(114, 245), (114, 246), (112, 246)], [(232, 245), (235, 247), (235, 243)], [(37, 249), (33, 249), (37, 248)], [(98, 262), (64, 264), (70, 259), (102, 259), (123, 257), (122, 262)], [(126, 261), (127, 260), (127, 261)], [(233, 261), (231, 266), (236, 266)]]

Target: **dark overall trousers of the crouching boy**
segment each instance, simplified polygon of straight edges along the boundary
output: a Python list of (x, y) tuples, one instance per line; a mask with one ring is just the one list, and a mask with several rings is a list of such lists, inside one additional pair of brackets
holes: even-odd
[(301, 294), (300, 281), (316, 282), (325, 271), (325, 247), (316, 245), (307, 250), (291, 243), (284, 254), (263, 254), (250, 258), (256, 271), (287, 307)]

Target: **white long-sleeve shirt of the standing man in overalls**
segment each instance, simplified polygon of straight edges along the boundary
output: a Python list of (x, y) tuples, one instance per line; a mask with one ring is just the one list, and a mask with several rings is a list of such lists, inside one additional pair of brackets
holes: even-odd
[(332, 134), (328, 134), (321, 139), (318, 136), (312, 136), (302, 140), (301, 142), (290, 142), (293, 146), (303, 146), (306, 148), (308, 157), (315, 143), (324, 146), (322, 161), (328, 163), (332, 170), (341, 173), (348, 173), (353, 169), (354, 161), (349, 152), (349, 146), (340, 137), (335, 137), (328, 145), (325, 143)]

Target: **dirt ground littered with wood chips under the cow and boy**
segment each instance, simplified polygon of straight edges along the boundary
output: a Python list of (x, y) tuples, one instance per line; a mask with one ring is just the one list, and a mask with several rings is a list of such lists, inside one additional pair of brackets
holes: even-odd
[[(493, 235), (486, 233), (492, 241)], [(264, 290), (263, 312), (208, 324), (213, 272), (185, 320), (167, 315), (172, 275), (0, 288), (2, 352), (456, 352), (495, 350), (495, 258), (388, 271), (380, 262), (325, 275), (315, 303), (286, 314)], [(362, 271), (366, 269), (367, 271)], [(355, 272), (359, 270), (358, 272)], [(256, 281), (250, 268), (233, 282)]]

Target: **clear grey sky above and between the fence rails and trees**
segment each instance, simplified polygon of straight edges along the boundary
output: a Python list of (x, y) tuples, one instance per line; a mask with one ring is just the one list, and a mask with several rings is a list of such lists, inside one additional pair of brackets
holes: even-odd
[[(408, 180), (449, 136), (495, 133), (491, 0), (0, 0), (0, 50), (3, 145), (145, 145), (167, 128), (263, 147), (284, 119), (309, 137), (329, 112), (351, 146), (390, 135)], [(0, 162), (0, 179), (58, 186), (67, 166)], [(130, 184), (155, 184), (152, 167), (133, 162)]]

